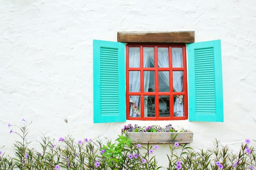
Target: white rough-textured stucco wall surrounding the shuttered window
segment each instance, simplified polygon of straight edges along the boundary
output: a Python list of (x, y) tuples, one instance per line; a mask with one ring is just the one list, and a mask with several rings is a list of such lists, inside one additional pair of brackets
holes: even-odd
[[(129, 123), (190, 129), (194, 148), (209, 148), (215, 138), (231, 147), (255, 139), (255, 9), (255, 0), (0, 1), (0, 148), (12, 151), (7, 124), (22, 118), (33, 121), (31, 141), (41, 133), (115, 139)], [(117, 41), (117, 31), (195, 31), (195, 42), (220, 39), (224, 123), (93, 124), (92, 40)]]

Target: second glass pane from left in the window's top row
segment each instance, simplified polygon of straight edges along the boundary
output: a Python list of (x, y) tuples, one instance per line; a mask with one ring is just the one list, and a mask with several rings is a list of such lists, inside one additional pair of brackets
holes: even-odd
[(155, 67), (154, 66), (154, 47), (143, 47), (143, 67)]

